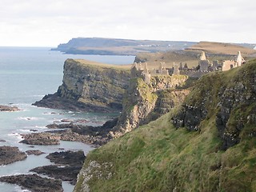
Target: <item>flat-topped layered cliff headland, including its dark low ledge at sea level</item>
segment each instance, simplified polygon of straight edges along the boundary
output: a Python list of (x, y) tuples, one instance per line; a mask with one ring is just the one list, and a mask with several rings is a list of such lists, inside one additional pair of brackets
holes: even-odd
[(122, 97), (130, 79), (129, 66), (67, 59), (63, 74), (57, 93), (46, 95), (34, 105), (99, 112), (122, 110)]

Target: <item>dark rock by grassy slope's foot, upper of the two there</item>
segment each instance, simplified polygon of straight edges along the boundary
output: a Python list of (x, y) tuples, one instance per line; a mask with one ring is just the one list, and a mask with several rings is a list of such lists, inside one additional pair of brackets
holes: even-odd
[(54, 162), (60, 165), (82, 166), (86, 156), (82, 150), (67, 150), (48, 154), (46, 158), (50, 159), (50, 162)]

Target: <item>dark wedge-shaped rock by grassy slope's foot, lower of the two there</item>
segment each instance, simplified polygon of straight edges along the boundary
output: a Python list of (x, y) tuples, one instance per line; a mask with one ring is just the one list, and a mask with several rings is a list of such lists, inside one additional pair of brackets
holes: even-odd
[(75, 185), (79, 171), (82, 166), (39, 166), (30, 171), (38, 174), (46, 174), (51, 178), (62, 179), (62, 181), (70, 181), (72, 185)]

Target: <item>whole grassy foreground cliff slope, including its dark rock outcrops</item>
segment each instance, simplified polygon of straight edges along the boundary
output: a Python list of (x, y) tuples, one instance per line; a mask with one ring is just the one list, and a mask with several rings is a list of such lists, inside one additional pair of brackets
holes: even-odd
[(181, 106), (91, 151), (74, 191), (256, 191), (255, 71), (204, 76)]

